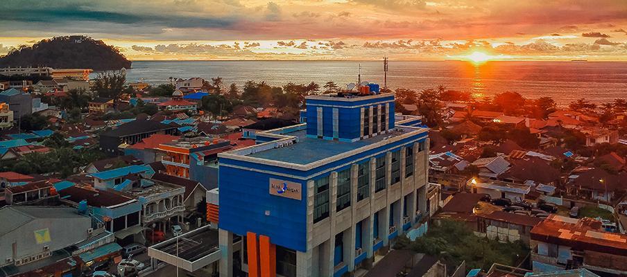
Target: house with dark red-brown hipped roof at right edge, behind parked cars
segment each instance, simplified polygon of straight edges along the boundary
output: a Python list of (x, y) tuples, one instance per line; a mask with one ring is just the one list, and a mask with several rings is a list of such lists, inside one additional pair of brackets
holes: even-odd
[(565, 185), (567, 193), (590, 200), (612, 202), (615, 196), (627, 190), (627, 173), (612, 174), (601, 168), (573, 172)]

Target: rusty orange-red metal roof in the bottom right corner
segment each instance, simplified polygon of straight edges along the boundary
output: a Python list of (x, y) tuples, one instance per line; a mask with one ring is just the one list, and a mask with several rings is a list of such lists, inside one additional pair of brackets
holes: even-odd
[(531, 239), (577, 249), (627, 256), (627, 235), (599, 231), (601, 222), (589, 217), (577, 220), (549, 217), (531, 229)]

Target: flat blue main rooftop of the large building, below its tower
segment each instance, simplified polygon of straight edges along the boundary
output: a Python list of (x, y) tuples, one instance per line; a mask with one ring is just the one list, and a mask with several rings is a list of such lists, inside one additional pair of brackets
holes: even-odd
[[(304, 125), (300, 126), (304, 127)], [(397, 127), (388, 134), (381, 134), (355, 142), (344, 142), (310, 138), (306, 136), (307, 131), (305, 129), (298, 128), (296, 131), (284, 133), (286, 138), (291, 138), (289, 139), (292, 141), (291, 145), (282, 145), (280, 148), (268, 148), (268, 145), (261, 144), (261, 146), (254, 145), (249, 148), (242, 148), (241, 150), (228, 153), (261, 160), (307, 165), (338, 156), (339, 154), (363, 152), (366, 147), (383, 145), (386, 144), (389, 139), (405, 136), (415, 131), (424, 132), (425, 135), (427, 133), (427, 129), (424, 128)], [(276, 141), (270, 143), (276, 143)]]

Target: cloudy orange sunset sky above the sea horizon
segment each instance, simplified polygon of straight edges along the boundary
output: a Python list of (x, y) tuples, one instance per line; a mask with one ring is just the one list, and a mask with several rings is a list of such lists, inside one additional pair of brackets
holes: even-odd
[(627, 1), (0, 1), (0, 55), (57, 35), (131, 60), (627, 61)]

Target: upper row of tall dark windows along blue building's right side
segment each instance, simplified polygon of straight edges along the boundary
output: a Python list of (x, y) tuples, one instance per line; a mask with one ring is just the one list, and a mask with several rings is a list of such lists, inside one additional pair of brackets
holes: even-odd
[[(424, 142), (419, 143), (419, 150), (424, 150)], [(392, 152), (392, 184), (401, 179), (400, 151)], [(413, 147), (405, 148), (405, 177), (413, 175)], [(350, 168), (338, 172), (336, 211), (350, 207)], [(329, 176), (314, 181), (314, 223), (329, 216)], [(386, 188), (386, 159), (375, 161), (375, 193)], [(357, 202), (370, 197), (370, 161), (359, 163), (357, 169)]]

